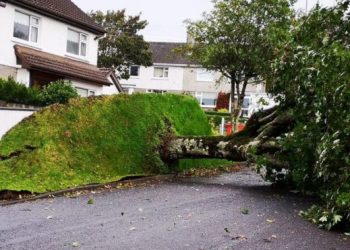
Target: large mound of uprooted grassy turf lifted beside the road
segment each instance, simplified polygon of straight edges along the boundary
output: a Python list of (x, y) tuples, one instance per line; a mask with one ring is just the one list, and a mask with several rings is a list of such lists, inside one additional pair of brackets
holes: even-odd
[(41, 193), (167, 172), (156, 154), (166, 118), (179, 135), (211, 133), (197, 102), (185, 96), (119, 95), (48, 107), (0, 141), (0, 156), (36, 148), (0, 161), (0, 190)]

